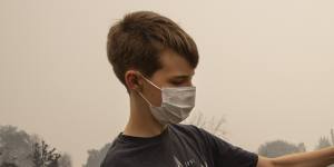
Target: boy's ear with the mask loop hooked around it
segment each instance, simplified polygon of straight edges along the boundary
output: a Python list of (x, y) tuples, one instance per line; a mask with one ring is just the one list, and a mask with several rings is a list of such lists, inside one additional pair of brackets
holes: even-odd
[(141, 90), (143, 84), (139, 73), (135, 70), (128, 70), (125, 73), (125, 81), (130, 90)]

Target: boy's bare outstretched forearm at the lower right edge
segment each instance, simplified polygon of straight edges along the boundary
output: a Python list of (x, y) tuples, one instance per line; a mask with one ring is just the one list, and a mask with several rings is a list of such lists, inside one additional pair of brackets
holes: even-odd
[(273, 158), (275, 167), (326, 167), (334, 164), (334, 147)]

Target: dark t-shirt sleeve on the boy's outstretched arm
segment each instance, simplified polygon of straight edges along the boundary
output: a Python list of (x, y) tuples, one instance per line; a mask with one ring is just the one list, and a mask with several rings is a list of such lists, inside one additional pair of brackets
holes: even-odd
[(256, 167), (258, 156), (240, 147), (234, 146), (210, 132), (197, 128), (204, 138), (206, 153), (215, 166)]

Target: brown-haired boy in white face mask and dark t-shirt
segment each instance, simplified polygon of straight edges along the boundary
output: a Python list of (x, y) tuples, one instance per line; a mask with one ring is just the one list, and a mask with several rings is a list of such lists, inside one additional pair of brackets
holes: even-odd
[(334, 149), (259, 157), (189, 125), (195, 41), (170, 19), (150, 11), (127, 14), (109, 30), (107, 53), (130, 98), (130, 118), (101, 167), (325, 167)]

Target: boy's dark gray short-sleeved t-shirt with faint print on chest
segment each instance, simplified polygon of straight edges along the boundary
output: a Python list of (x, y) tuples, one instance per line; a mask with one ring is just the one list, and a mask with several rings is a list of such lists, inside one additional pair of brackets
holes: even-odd
[(258, 156), (191, 125), (151, 138), (119, 134), (100, 167), (256, 167)]

